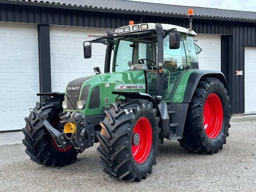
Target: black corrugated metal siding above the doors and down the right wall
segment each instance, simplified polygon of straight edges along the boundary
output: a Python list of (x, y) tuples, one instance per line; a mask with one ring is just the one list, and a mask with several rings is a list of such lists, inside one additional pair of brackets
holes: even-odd
[[(145, 14), (147, 13), (145, 12)], [(141, 13), (129, 15), (0, 3), (0, 21), (6, 22), (118, 28), (127, 25), (129, 20), (140, 23), (141, 18)], [(144, 15), (142, 22), (167, 23), (186, 28), (189, 26), (188, 19), (179, 18), (179, 15), (177, 18)], [(192, 27), (198, 34), (223, 35), (221, 42), (225, 42), (225, 46), (221, 46), (221, 70), (225, 74), (230, 88), (232, 114), (243, 113), (244, 75), (236, 76), (236, 70), (244, 71), (244, 45), (256, 46), (255, 23), (194, 19)]]

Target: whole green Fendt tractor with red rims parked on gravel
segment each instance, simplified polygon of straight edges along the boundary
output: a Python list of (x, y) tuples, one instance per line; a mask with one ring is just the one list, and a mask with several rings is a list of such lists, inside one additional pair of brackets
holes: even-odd
[(228, 85), (220, 71), (199, 70), (188, 16), (189, 29), (130, 22), (84, 42), (84, 58), (92, 57), (92, 44), (107, 45), (104, 73), (95, 67), (65, 93), (37, 94), (51, 97), (25, 118), (22, 142), (31, 160), (67, 165), (100, 142), (105, 173), (140, 181), (152, 173), (164, 138), (193, 153), (221, 150), (231, 118)]

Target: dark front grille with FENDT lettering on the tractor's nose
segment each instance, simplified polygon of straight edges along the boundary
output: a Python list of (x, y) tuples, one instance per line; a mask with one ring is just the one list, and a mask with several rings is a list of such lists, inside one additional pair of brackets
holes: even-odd
[[(75, 88), (76, 90), (68, 90), (67, 91), (67, 101), (68, 101), (68, 109), (75, 110), (76, 102), (79, 100), (79, 93), (84, 81), (91, 79), (92, 77), (81, 77), (70, 81), (68, 83), (68, 88)], [(68, 89), (67, 88), (67, 89)], [(87, 92), (88, 94), (88, 92)], [(87, 96), (86, 96), (87, 97)]]

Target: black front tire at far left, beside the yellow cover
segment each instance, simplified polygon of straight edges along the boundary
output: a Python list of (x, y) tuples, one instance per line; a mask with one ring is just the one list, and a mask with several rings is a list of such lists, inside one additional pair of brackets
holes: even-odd
[(26, 127), (22, 129), (25, 138), (22, 140), (27, 147), (25, 152), (37, 164), (46, 166), (63, 166), (76, 160), (77, 152), (73, 145), (66, 150), (59, 149), (52, 135), (37, 118), (37, 112), (48, 113), (48, 121), (54, 128), (62, 129), (59, 113), (62, 111), (61, 98), (52, 98), (44, 103), (36, 102), (36, 107), (30, 109), (30, 115), (25, 118)]

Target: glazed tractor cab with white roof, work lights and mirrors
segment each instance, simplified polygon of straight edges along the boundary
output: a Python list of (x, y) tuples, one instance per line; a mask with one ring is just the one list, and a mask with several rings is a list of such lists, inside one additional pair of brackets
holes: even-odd
[(117, 28), (114, 34), (107, 31), (107, 36), (89, 41), (92, 45), (84, 42), (85, 58), (91, 58), (93, 42), (106, 44), (105, 73), (143, 70), (147, 93), (154, 97), (158, 90), (162, 100), (170, 100), (182, 73), (199, 69), (195, 47), (198, 52), (201, 49), (193, 42), (196, 33), (169, 24), (130, 24)]

